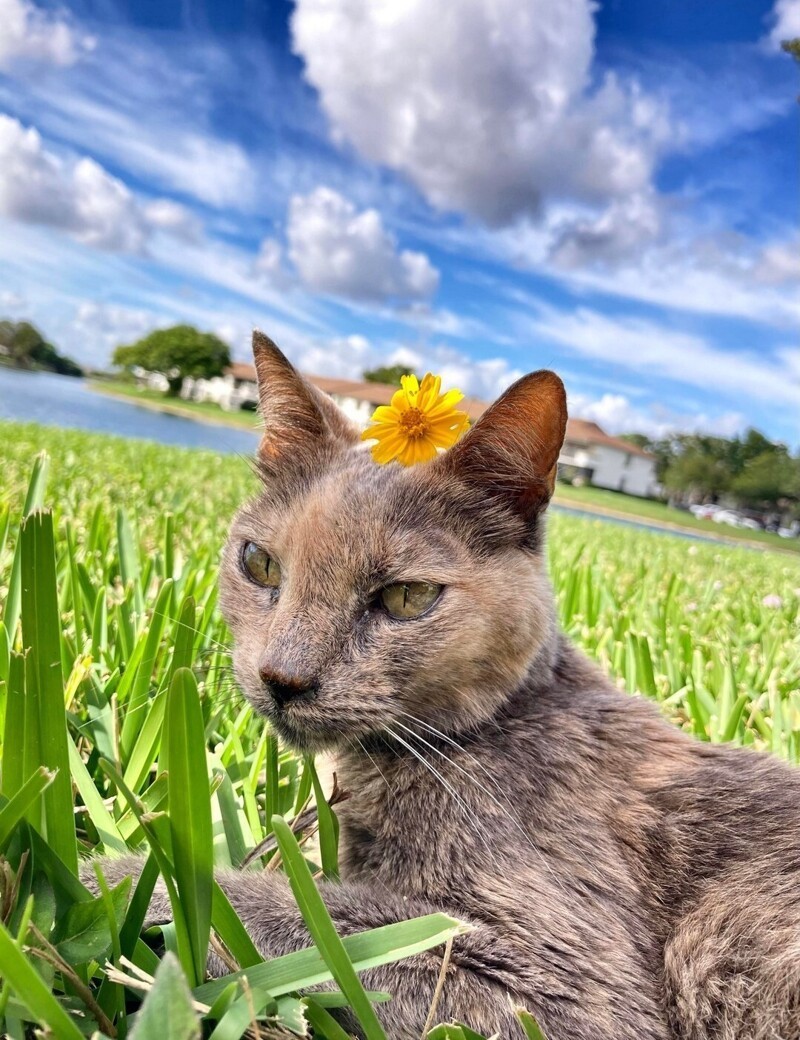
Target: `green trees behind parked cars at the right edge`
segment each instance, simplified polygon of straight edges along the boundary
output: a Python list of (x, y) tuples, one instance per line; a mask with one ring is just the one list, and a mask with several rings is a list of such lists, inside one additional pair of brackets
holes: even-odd
[(681, 501), (736, 501), (741, 508), (800, 514), (800, 456), (757, 430), (742, 437), (677, 434), (650, 440), (625, 439), (651, 451), (656, 474), (671, 497)]

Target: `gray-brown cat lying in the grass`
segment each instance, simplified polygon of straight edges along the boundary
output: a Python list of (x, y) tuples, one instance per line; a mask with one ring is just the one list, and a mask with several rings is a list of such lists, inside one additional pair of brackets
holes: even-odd
[[(291, 746), (334, 749), (351, 792), (343, 881), (322, 886), (340, 931), (471, 921), (437, 1017), (486, 1035), (521, 1036), (516, 1004), (549, 1040), (800, 1038), (797, 775), (670, 727), (557, 629), (558, 376), (404, 468), (266, 337), (254, 353), (264, 490), (221, 601), (248, 698)], [(285, 879), (220, 880), (265, 956), (308, 945)], [(440, 967), (366, 973), (390, 1037), (419, 1038)]]

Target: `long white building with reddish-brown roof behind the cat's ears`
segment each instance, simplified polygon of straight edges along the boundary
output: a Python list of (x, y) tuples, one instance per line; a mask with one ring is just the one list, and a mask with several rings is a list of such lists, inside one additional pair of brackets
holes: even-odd
[[(379, 405), (388, 405), (396, 387), (383, 383), (339, 380), (327, 375), (306, 379), (333, 397), (344, 414), (359, 426), (366, 426)], [(235, 362), (225, 375), (211, 380), (184, 380), (181, 396), (191, 400), (210, 400), (226, 411), (246, 407), (255, 409), (258, 402), (256, 370), (252, 365)], [(459, 406), (474, 421), (489, 407), (486, 401), (466, 397)], [(570, 419), (567, 436), (559, 459), (559, 473), (583, 480), (597, 488), (623, 491), (646, 498), (657, 491), (655, 459), (648, 451), (611, 437), (596, 422)]]

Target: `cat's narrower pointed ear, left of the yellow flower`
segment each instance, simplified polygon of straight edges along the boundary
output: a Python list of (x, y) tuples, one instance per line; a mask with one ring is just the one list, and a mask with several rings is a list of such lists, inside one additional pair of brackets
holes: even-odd
[(359, 432), (328, 394), (303, 379), (262, 332), (253, 333), (253, 358), (263, 434), (258, 456), (265, 465), (307, 462), (320, 451), (359, 442)]

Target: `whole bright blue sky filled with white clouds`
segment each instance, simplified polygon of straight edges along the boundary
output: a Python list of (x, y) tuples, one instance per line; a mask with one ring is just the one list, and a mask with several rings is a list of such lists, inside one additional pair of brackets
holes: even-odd
[(0, 0), (0, 313), (800, 443), (800, 0)]

